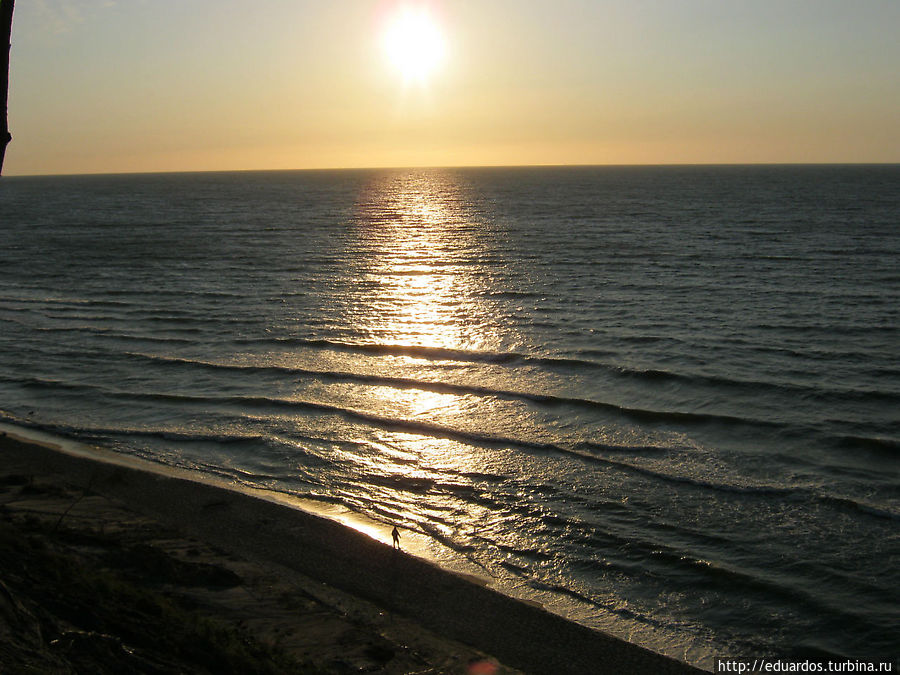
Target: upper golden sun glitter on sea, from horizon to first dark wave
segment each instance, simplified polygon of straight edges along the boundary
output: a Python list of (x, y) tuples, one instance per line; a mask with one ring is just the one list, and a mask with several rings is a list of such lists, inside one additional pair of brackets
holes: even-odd
[(382, 177), (365, 191), (358, 222), (361, 281), (373, 288), (363, 328), (379, 342), (490, 349), (478, 290), (477, 224), (451, 174)]

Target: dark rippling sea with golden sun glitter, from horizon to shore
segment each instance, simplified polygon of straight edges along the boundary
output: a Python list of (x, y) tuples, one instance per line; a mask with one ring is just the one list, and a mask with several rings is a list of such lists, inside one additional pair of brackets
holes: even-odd
[(701, 667), (893, 661), (900, 166), (4, 177), (0, 422)]

